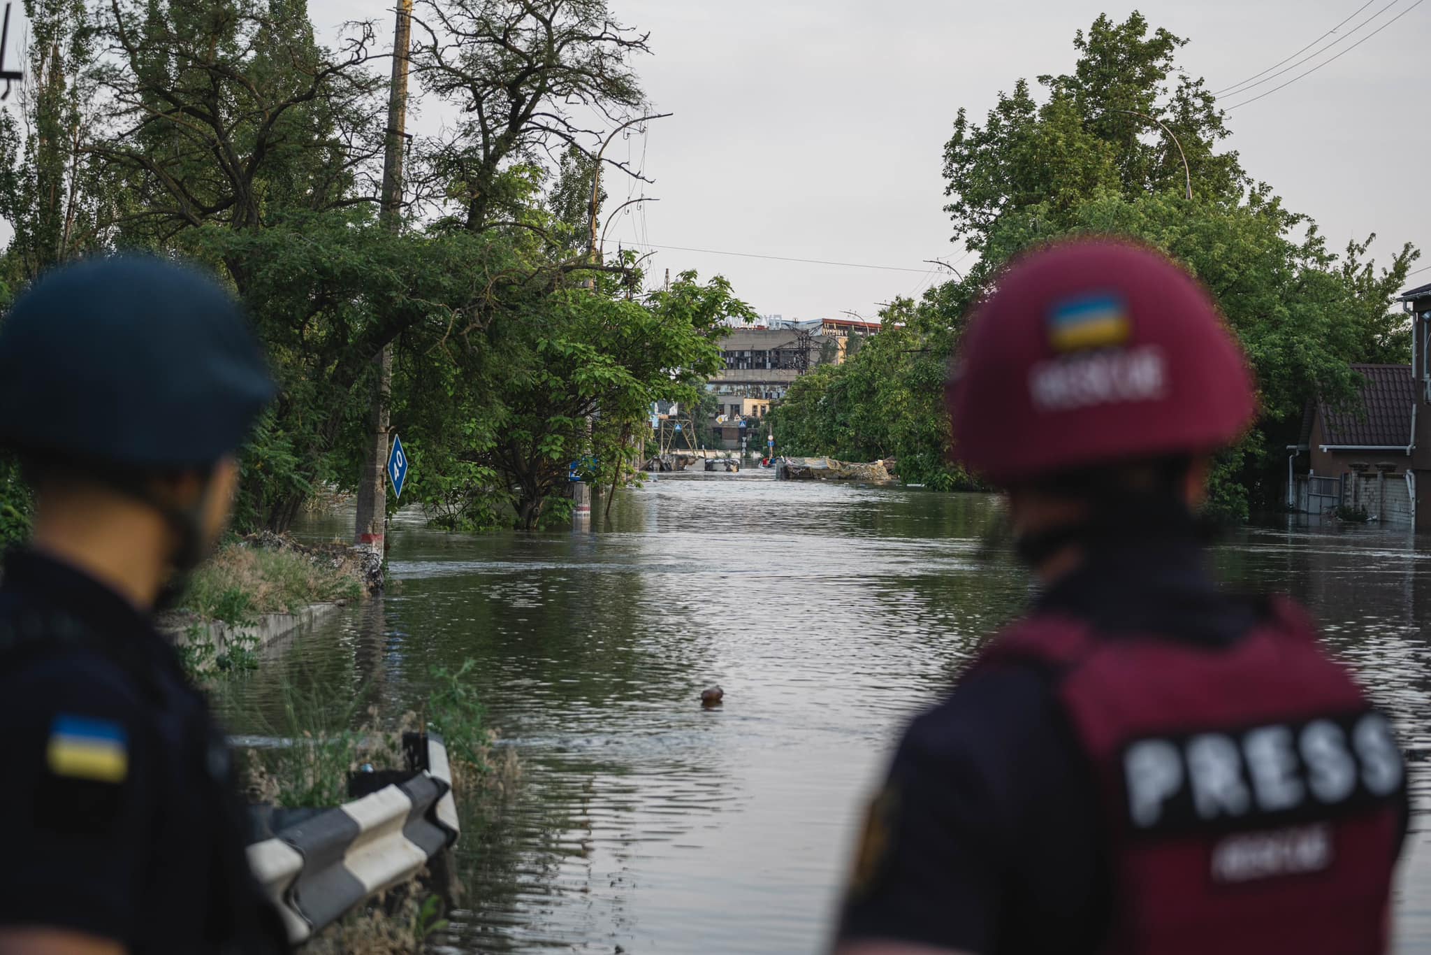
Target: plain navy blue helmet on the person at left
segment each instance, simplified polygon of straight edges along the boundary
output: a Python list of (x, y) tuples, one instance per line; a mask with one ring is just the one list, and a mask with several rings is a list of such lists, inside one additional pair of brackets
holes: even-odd
[(206, 468), (275, 387), (238, 302), (149, 256), (41, 276), (0, 319), (0, 444), (132, 470)]

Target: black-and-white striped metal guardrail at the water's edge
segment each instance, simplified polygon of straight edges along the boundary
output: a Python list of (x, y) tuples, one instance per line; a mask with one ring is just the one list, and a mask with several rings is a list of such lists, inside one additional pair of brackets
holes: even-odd
[(323, 809), (249, 846), (249, 865), (298, 944), (371, 895), (411, 879), (456, 842), (446, 747), (405, 735), (414, 775)]

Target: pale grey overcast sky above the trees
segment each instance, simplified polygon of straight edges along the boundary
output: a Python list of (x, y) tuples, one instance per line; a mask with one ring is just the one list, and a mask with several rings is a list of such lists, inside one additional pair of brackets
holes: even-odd
[[(1325, 69), (1231, 113), (1231, 147), (1329, 242), (1377, 232), (1382, 258), (1431, 246), (1431, 123), (1425, 63), (1431, 3), (1374, 0), (1321, 57), (1258, 86), (1266, 92), (1392, 26)], [(1424, 1), (1424, 0), (1422, 0)], [(322, 33), (349, 19), (391, 23), (392, 0), (309, 0)], [(1138, 9), (1189, 40), (1179, 63), (1221, 89), (1262, 72), (1352, 14), (1361, 0), (1156, 0)], [(873, 316), (877, 302), (937, 279), (924, 259), (954, 259), (940, 152), (960, 106), (979, 120), (1019, 77), (1066, 72), (1073, 31), (1109, 0), (611, 0), (651, 33), (635, 63), (660, 112), (648, 135), (618, 140), (660, 202), (622, 216), (607, 245), (644, 241), (751, 255), (897, 266), (883, 271), (658, 249), (653, 275), (723, 273), (761, 314)], [(16, 4), (19, 10), (19, 4)], [(1335, 39), (1335, 37), (1331, 37)], [(1314, 47), (1315, 49), (1315, 47)], [(1228, 103), (1239, 97), (1228, 97)], [(435, 110), (421, 126), (439, 122)], [(630, 183), (608, 180), (614, 200)], [(640, 195), (640, 193), (635, 193)], [(608, 203), (608, 209), (615, 202)], [(1431, 249), (1418, 263), (1431, 265)], [(1412, 283), (1431, 281), (1431, 271)]]

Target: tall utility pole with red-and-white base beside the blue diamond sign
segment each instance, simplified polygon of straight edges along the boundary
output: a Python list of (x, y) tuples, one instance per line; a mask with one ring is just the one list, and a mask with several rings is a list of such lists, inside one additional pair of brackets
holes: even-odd
[[(398, 23), (392, 30), (392, 84), (388, 87), (388, 143), (382, 159), (382, 205), (379, 216), (391, 232), (402, 228), (402, 153), (408, 123), (408, 52), (412, 37), (412, 0), (398, 0)], [(378, 388), (372, 397), (372, 431), (362, 480), (358, 484), (356, 543), (384, 553), (388, 515), (388, 404), (392, 397), (392, 345), (384, 345), (373, 359)]]

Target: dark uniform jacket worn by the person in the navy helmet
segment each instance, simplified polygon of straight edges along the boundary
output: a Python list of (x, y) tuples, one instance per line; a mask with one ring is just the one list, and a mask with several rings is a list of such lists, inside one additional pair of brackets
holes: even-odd
[(286, 949), (229, 752), (147, 616), (33, 551), (0, 584), (0, 926), (130, 952)]

